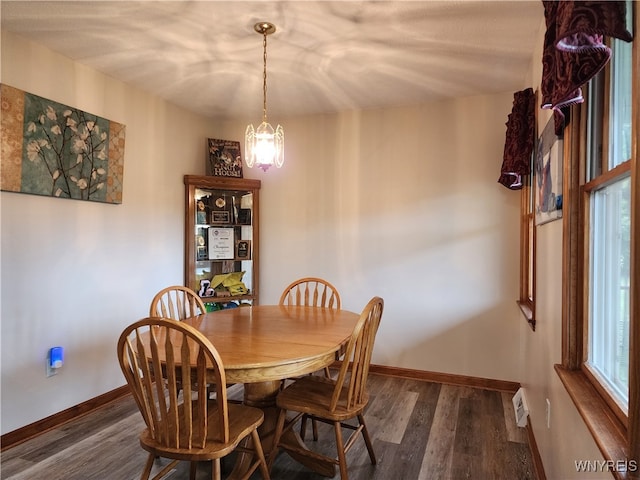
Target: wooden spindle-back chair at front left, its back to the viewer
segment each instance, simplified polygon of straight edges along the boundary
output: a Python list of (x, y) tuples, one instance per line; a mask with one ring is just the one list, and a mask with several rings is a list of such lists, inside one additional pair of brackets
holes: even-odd
[[(258, 435), (264, 413), (227, 402), (224, 365), (202, 333), (176, 320), (145, 318), (120, 335), (118, 359), (146, 424), (140, 445), (149, 456), (141, 480), (149, 478), (156, 457), (172, 461), (154, 480), (179, 461), (191, 462), (191, 480), (196, 462), (211, 461), (211, 478), (219, 480), (220, 459), (234, 450), (253, 456), (244, 479), (258, 467), (269, 479)], [(208, 398), (207, 379), (215, 384), (215, 400)], [(180, 385), (182, 395), (178, 395)], [(249, 435), (251, 448), (240, 446)]]

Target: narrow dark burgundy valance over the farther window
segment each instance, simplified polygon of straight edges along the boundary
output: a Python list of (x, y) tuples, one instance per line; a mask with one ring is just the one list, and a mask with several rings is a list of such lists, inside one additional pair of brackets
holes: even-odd
[(498, 182), (511, 190), (522, 188), (522, 177), (531, 172), (531, 152), (535, 136), (536, 100), (532, 88), (513, 94), (507, 119), (504, 157)]

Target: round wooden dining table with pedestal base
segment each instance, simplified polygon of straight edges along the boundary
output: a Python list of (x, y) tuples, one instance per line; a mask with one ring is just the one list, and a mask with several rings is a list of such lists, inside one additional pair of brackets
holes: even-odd
[[(360, 314), (321, 307), (255, 305), (209, 312), (184, 320), (202, 332), (224, 364), (227, 383), (244, 384), (244, 403), (261, 408), (260, 429), (265, 453), (272, 451), (277, 420), (276, 396), (282, 381), (331, 365), (348, 342)], [(283, 442), (304, 446), (289, 430)], [(238, 456), (234, 473), (244, 471), (248, 458)], [(298, 461), (332, 477), (335, 466), (307, 457)]]

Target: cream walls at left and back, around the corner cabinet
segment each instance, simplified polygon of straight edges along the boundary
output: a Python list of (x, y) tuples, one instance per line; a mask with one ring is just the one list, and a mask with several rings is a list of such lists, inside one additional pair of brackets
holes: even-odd
[[(182, 279), (182, 175), (203, 172), (204, 138), (241, 139), (245, 123), (216, 129), (2, 40), (2, 82), (127, 125), (122, 205), (0, 196), (5, 433), (124, 383), (119, 332)], [(245, 172), (263, 180), (261, 302), (322, 276), (344, 308), (385, 299), (375, 363), (518, 381), (519, 195), (496, 182), (511, 102), (506, 92), (281, 119), (285, 167)], [(66, 364), (45, 378), (54, 345)]]

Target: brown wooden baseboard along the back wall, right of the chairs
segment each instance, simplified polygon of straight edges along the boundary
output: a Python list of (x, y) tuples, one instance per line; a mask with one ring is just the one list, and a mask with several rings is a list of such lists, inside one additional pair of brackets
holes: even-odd
[(426, 382), (445, 383), (447, 385), (457, 385), (461, 387), (482, 388), (485, 390), (497, 390), (500, 392), (516, 393), (520, 388), (518, 382), (508, 382), (506, 380), (494, 380), (491, 378), (470, 377), (467, 375), (456, 375), (453, 373), (429, 372), (427, 370), (412, 370), (409, 368), (387, 367), (385, 365), (371, 365), (371, 373), (389, 375), (392, 377), (413, 378)]

